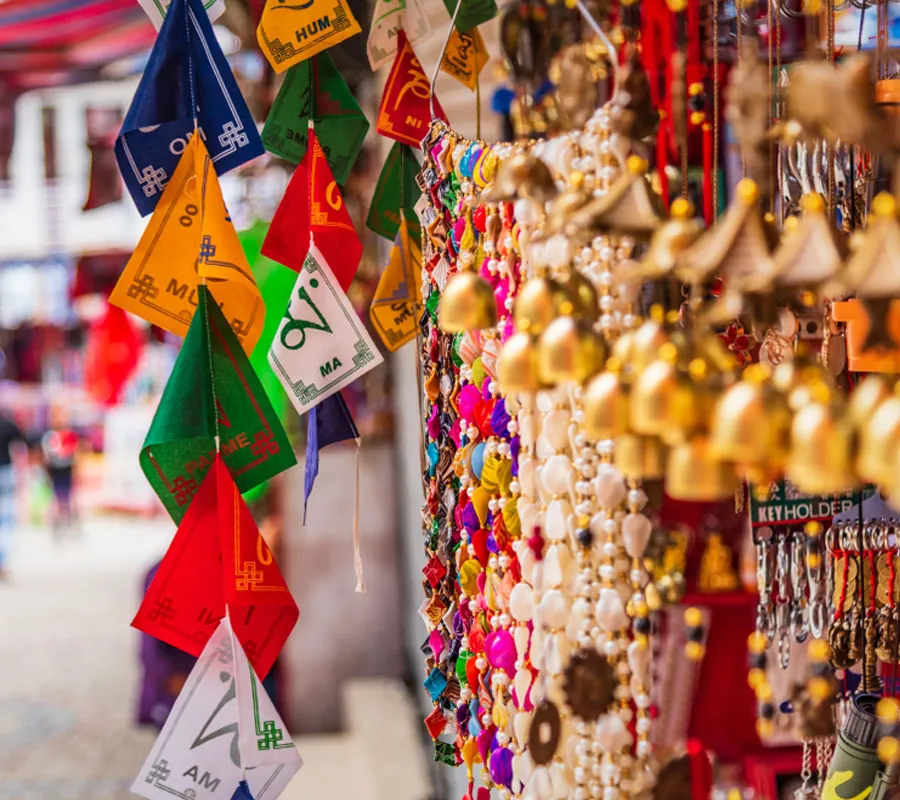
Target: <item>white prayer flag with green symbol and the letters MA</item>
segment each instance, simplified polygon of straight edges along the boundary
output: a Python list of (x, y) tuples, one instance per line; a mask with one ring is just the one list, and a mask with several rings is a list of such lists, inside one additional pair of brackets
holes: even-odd
[(301, 416), (382, 362), (366, 326), (313, 244), (269, 350)]

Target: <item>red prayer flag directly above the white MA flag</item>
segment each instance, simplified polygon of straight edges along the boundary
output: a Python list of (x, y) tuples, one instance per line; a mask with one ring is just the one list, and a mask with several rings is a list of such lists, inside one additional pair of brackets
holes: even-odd
[(346, 292), (359, 267), (362, 242), (314, 131), (309, 132), (309, 138), (312, 147), (294, 170), (272, 218), (262, 254), (299, 272), (310, 243), (315, 243)]

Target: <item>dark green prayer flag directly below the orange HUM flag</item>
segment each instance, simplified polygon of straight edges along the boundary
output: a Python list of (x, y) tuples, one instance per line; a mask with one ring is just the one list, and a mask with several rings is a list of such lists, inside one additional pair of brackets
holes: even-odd
[(266, 149), (299, 164), (306, 155), (310, 119), (334, 179), (346, 183), (369, 121), (328, 53), (288, 70), (263, 128)]

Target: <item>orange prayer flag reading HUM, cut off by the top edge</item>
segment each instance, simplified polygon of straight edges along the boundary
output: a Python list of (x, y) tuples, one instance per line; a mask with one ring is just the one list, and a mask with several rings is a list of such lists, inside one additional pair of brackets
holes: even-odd
[(266, 0), (256, 39), (272, 69), (284, 72), (359, 32), (346, 0)]

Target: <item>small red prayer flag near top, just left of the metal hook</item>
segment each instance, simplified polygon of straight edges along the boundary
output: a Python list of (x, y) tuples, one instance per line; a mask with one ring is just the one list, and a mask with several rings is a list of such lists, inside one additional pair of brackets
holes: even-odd
[[(431, 84), (401, 28), (397, 31), (397, 56), (384, 85), (377, 131), (382, 136), (418, 147), (432, 119)], [(434, 117), (447, 122), (437, 97)]]

